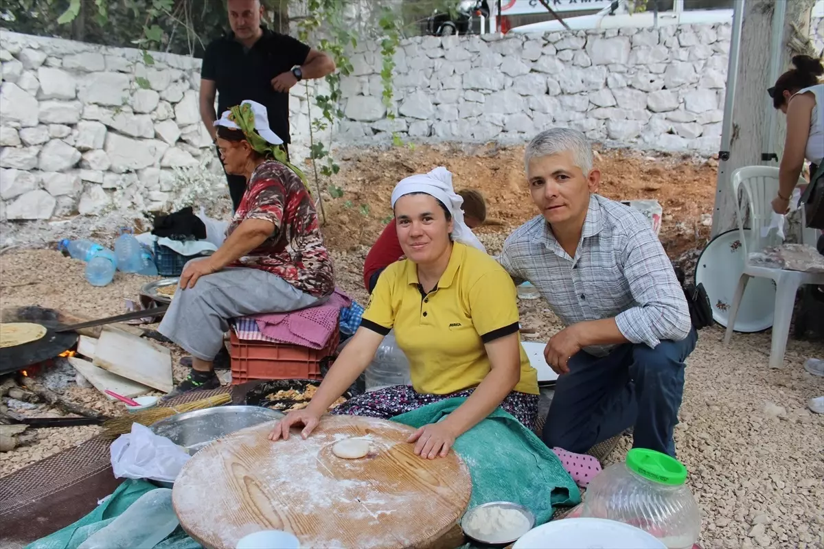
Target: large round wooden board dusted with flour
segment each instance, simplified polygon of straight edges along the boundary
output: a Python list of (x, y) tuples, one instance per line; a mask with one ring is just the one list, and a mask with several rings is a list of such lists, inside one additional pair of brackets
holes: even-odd
[[(392, 421), (323, 416), (307, 440), (270, 442), (274, 424), (209, 444), (185, 464), (172, 502), (180, 526), (204, 547), (234, 548), (259, 530), (294, 533), (301, 547), (420, 547), (466, 510), (469, 469), (455, 452), (422, 459)], [(332, 454), (338, 440), (365, 437), (377, 452)]]

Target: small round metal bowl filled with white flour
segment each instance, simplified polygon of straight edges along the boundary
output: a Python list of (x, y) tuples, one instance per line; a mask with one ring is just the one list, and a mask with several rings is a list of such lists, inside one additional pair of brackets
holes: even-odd
[(461, 529), (475, 542), (509, 545), (535, 526), (535, 515), (523, 505), (491, 501), (466, 511)]

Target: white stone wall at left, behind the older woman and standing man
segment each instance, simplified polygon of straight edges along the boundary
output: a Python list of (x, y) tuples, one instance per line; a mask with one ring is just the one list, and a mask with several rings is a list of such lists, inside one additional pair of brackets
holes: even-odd
[[(153, 212), (227, 193), (200, 120), (200, 60), (152, 58), (0, 30), (0, 221)], [(304, 86), (290, 107), (300, 160)]]

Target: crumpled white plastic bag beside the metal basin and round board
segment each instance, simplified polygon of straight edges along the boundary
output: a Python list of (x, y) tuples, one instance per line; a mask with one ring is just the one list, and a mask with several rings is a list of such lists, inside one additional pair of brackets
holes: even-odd
[(139, 423), (132, 424), (129, 435), (120, 435), (111, 443), (111, 468), (115, 478), (175, 482), (190, 457), (185, 449)]

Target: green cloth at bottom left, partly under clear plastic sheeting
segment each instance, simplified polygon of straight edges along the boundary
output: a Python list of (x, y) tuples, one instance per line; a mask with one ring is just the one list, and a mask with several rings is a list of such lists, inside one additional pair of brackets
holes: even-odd
[[(50, 536), (31, 542), (26, 549), (75, 549), (91, 537), (91, 534), (108, 526), (111, 521), (129, 509), (129, 505), (137, 501), (141, 495), (156, 488), (157, 486), (151, 482), (127, 480), (118, 486), (117, 490), (112, 492), (112, 495), (103, 503), (97, 505), (91, 513)], [(166, 539), (158, 543), (155, 549), (198, 549), (199, 547), (200, 545), (178, 526)]]

